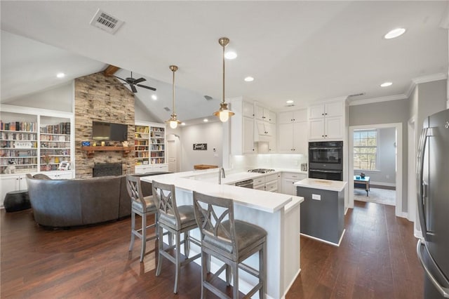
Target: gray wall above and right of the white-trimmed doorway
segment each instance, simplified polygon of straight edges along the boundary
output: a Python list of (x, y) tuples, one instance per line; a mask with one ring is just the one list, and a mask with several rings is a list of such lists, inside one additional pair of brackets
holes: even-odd
[[(407, 150), (407, 123), (409, 119), (410, 100), (392, 100), (388, 102), (377, 102), (366, 105), (349, 106), (349, 126), (363, 126), (371, 124), (402, 124), (402, 159), (403, 159), (403, 185), (402, 185), (402, 210), (408, 211), (408, 150)], [(400, 187), (400, 186), (396, 186)]]

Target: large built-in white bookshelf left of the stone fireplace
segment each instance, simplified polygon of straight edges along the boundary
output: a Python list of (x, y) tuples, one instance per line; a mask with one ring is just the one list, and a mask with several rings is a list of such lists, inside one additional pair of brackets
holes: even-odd
[(14, 173), (36, 173), (58, 170), (61, 161), (71, 162), (72, 114), (8, 105), (1, 108), (0, 174), (9, 173), (8, 165), (14, 165)]

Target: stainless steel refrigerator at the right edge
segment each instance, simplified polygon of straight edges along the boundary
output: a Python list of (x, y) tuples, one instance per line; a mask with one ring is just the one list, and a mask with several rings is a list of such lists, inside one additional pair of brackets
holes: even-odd
[(417, 154), (424, 298), (449, 298), (449, 109), (427, 117)]

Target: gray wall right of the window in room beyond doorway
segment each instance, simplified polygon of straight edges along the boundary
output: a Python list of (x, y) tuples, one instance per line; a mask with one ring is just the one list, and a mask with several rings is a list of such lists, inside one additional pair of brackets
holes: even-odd
[[(396, 141), (395, 128), (380, 128), (377, 130), (377, 170), (363, 171), (370, 177), (370, 181), (375, 185), (396, 185)], [(361, 171), (354, 170), (354, 175), (359, 175)]]

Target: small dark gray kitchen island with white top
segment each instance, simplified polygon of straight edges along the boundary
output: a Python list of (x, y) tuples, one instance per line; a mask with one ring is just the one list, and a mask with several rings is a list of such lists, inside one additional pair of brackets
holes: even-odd
[(301, 234), (336, 246), (344, 235), (344, 188), (347, 182), (306, 178), (295, 182), (301, 205)]

